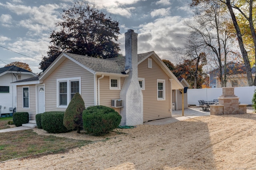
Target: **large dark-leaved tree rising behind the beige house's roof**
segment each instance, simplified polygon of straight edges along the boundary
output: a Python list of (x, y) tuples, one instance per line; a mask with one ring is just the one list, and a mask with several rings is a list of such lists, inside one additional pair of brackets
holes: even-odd
[(60, 30), (52, 31), (48, 56), (42, 58), (40, 69), (45, 71), (61, 52), (112, 58), (120, 51), (119, 23), (100, 12), (95, 5), (77, 1), (63, 10), (62, 21), (56, 23)]

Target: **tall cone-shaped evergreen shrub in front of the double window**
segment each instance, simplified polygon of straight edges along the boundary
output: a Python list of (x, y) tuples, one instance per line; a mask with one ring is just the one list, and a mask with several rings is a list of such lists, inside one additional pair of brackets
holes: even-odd
[(64, 113), (63, 125), (68, 130), (77, 130), (83, 128), (82, 113), (85, 109), (84, 100), (79, 93), (76, 93)]

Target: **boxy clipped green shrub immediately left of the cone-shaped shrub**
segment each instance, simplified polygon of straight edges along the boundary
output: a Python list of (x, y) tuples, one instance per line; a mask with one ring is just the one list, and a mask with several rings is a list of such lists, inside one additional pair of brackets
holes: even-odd
[(64, 112), (52, 111), (44, 112), (41, 115), (41, 125), (44, 130), (49, 133), (64, 133), (68, 132), (63, 125)]

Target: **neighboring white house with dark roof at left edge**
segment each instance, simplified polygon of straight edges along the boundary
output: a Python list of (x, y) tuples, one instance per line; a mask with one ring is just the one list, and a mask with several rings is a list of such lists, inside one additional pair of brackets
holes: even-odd
[(36, 76), (31, 71), (14, 65), (0, 68), (0, 114), (12, 113), (16, 107), (16, 85), (12, 82)]

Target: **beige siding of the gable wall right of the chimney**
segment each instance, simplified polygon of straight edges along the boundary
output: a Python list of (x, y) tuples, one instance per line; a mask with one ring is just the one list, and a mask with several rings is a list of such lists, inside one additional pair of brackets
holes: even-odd
[[(142, 90), (144, 122), (171, 117), (171, 84), (169, 77), (154, 59), (152, 59), (152, 69), (148, 68), (147, 61), (145, 60), (138, 65), (138, 77), (145, 79), (145, 90)], [(165, 80), (165, 100), (157, 100), (157, 79)]]

